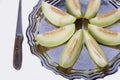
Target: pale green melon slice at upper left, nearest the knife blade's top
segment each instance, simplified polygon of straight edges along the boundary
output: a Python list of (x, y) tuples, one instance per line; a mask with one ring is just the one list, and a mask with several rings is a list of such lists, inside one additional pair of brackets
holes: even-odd
[(59, 27), (72, 24), (76, 20), (74, 16), (44, 1), (42, 1), (42, 12), (52, 24)]

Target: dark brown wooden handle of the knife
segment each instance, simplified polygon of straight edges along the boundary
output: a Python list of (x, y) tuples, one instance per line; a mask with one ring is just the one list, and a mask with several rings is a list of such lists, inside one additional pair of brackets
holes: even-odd
[(13, 66), (20, 70), (22, 65), (22, 42), (23, 36), (16, 36), (14, 44)]

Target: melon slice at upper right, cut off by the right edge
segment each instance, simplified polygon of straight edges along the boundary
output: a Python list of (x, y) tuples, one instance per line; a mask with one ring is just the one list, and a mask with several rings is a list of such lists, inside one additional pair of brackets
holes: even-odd
[(101, 27), (107, 27), (109, 25), (112, 25), (119, 19), (120, 8), (98, 15), (95, 18), (90, 19), (90, 23)]

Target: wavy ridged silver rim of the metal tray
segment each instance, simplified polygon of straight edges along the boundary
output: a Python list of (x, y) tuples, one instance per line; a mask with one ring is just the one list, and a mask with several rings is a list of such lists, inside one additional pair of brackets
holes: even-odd
[[(50, 1), (51, 4), (54, 4), (54, 2), (55, 2), (55, 4), (57, 3), (56, 0), (46, 0), (46, 1)], [(60, 0), (58, 0), (58, 2), (59, 1)], [(46, 58), (44, 58), (43, 55), (39, 55), (39, 53), (37, 53), (37, 51), (34, 49), (34, 45), (33, 45), (34, 43), (32, 43), (32, 40), (33, 40), (32, 27), (34, 27), (34, 25), (35, 25), (35, 22), (34, 22), (33, 19), (34, 19), (35, 14), (37, 13), (38, 9), (41, 7), (40, 4), (41, 4), (41, 0), (38, 1), (38, 3), (33, 7), (33, 10), (29, 14), (29, 17), (28, 17), (29, 25), (28, 25), (27, 30), (26, 30), (26, 36), (27, 36), (27, 39), (28, 39), (27, 43), (29, 44), (31, 53), (36, 55), (40, 59), (41, 64), (42, 64), (43, 67), (45, 67), (48, 70), (52, 70), (52, 72), (54, 72), (57, 75), (64, 75), (65, 78), (70, 79), (70, 80), (81, 79), (81, 78), (89, 79), (89, 80), (98, 79), (98, 78), (104, 78), (105, 76), (114, 74), (114, 73), (116, 73), (118, 71), (118, 67), (120, 67), (120, 58), (118, 58), (118, 60), (112, 66), (112, 68), (114, 66), (116, 68), (113, 69), (111, 73), (108, 73), (106, 75), (102, 75), (102, 73), (91, 74), (89, 76), (85, 76), (83, 74), (79, 74), (77, 76), (75, 76), (75, 75), (66, 75), (66, 74), (64, 74), (62, 72), (58, 73), (58, 71), (56, 69), (54, 69), (53, 67), (48, 66), (48, 63), (45, 63)], [(117, 8), (117, 7), (115, 6), (115, 8)], [(118, 56), (120, 56), (120, 54)]]

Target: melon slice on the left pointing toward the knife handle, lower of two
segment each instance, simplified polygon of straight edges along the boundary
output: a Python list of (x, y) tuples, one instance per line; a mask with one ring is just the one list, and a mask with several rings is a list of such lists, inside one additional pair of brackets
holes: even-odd
[(35, 36), (35, 40), (42, 46), (55, 47), (66, 42), (75, 32), (75, 24)]

